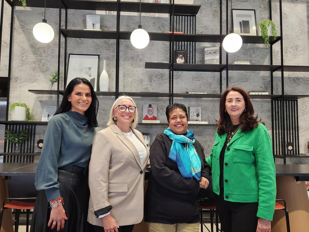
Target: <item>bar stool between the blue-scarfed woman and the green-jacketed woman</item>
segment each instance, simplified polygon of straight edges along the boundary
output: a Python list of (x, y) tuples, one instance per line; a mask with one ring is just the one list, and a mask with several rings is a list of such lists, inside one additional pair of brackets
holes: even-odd
[[(218, 226), (218, 214), (216, 211), (216, 205), (214, 203), (214, 199), (210, 198), (201, 198), (200, 199), (200, 216), (201, 216), (201, 232), (203, 232), (203, 226), (209, 231), (209, 232), (214, 232), (214, 224), (216, 225), (216, 232), (219, 231), (219, 226)], [(210, 230), (207, 228), (207, 226), (203, 222), (203, 209), (209, 209), (210, 211)], [(216, 222), (214, 223), (214, 213), (216, 215)]]

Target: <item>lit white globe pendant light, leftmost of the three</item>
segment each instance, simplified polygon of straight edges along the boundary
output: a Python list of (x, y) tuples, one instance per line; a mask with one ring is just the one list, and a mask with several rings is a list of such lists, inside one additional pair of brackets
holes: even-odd
[(44, 3), (44, 19), (42, 23), (38, 23), (34, 25), (32, 33), (34, 38), (41, 43), (49, 43), (54, 38), (54, 30), (53, 28), (47, 24), (47, 20), (45, 19), (45, 11), (46, 11), (46, 0)]

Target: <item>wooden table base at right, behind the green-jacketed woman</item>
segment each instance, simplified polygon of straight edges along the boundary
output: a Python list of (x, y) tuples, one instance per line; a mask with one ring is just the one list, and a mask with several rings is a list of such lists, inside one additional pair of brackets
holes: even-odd
[[(291, 232), (309, 231), (309, 200), (306, 183), (296, 183), (293, 176), (277, 176), (277, 199), (286, 201)], [(279, 202), (281, 204), (281, 202)], [(286, 219), (283, 210), (275, 210), (272, 232), (285, 232)]]

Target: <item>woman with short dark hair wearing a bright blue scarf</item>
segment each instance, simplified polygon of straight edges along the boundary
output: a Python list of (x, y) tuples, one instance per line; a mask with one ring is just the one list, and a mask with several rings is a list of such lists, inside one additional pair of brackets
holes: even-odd
[(198, 193), (209, 186), (204, 149), (187, 129), (183, 104), (166, 108), (169, 127), (150, 148), (151, 175), (145, 197), (145, 221), (149, 232), (198, 231)]

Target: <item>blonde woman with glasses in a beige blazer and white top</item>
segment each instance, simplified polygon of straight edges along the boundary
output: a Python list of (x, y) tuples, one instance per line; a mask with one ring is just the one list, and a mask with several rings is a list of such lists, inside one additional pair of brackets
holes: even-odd
[[(89, 165), (88, 221), (94, 231), (131, 232), (143, 219), (144, 173), (149, 150), (138, 124), (136, 104), (121, 96), (108, 127), (96, 133)], [(102, 228), (103, 227), (103, 228)]]

